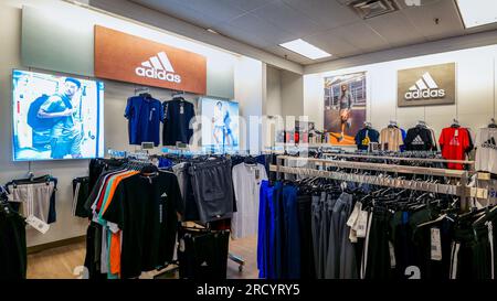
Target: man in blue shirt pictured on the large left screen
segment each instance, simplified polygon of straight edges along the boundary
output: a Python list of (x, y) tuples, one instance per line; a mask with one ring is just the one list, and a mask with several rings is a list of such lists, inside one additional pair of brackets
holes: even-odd
[(40, 118), (53, 119), (54, 122), (50, 131), (52, 159), (64, 159), (67, 154), (73, 159), (82, 158), (82, 132), (73, 105), (74, 96), (80, 89), (81, 82), (67, 77), (62, 92), (49, 97), (38, 112)]

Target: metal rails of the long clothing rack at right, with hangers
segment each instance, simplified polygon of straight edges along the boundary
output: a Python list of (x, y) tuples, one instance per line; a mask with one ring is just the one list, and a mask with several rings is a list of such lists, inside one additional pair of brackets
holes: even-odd
[[(285, 166), (285, 160), (297, 160), (311, 163), (314, 166), (320, 166), (320, 170), (309, 166), (290, 168)], [(271, 165), (271, 171), (276, 172), (277, 179), (281, 179), (283, 173), (304, 175), (308, 178), (327, 178), (338, 181), (366, 183), (379, 186), (389, 186), (394, 189), (409, 189), (415, 191), (424, 191), (432, 193), (441, 193), (455, 195), (461, 197), (462, 208), (468, 208), (468, 197), (487, 198), (488, 190), (470, 187), (467, 185), (469, 181), (469, 172), (459, 170), (446, 169), (430, 169), (419, 166), (405, 166), (383, 163), (364, 163), (364, 162), (347, 162), (347, 161), (331, 161), (325, 159), (298, 158), (289, 155), (278, 155), (276, 158), (276, 165)], [(328, 171), (328, 166), (339, 169), (363, 170), (363, 171), (380, 171), (392, 172), (401, 174), (415, 174), (426, 176), (446, 176), (457, 180), (457, 184), (441, 184), (436, 182), (420, 181), (420, 180), (404, 180), (401, 178), (388, 178), (371, 174), (347, 173), (341, 171)]]

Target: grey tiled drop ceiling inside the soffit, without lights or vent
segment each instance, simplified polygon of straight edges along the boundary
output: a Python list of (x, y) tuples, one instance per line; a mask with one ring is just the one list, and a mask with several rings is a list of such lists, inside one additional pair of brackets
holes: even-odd
[(337, 60), (497, 29), (465, 30), (454, 0), (396, 0), (400, 11), (366, 21), (345, 4), (350, 0), (131, 1), (304, 65), (330, 58), (313, 61), (278, 44), (303, 39)]

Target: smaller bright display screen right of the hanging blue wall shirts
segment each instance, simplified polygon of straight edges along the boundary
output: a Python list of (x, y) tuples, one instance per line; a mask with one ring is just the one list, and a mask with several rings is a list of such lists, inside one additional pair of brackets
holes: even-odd
[(200, 99), (202, 112), (202, 147), (215, 152), (239, 149), (239, 104), (203, 97)]

